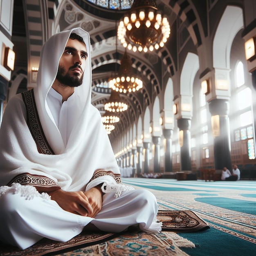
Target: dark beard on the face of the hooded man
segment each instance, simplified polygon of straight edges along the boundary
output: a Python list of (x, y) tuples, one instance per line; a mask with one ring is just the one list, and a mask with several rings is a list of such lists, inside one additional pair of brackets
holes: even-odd
[(76, 75), (70, 76), (70, 74), (68, 73), (65, 74), (65, 67), (62, 65), (59, 65), (56, 79), (65, 86), (78, 87), (83, 83), (83, 74), (81, 78), (79, 78)]

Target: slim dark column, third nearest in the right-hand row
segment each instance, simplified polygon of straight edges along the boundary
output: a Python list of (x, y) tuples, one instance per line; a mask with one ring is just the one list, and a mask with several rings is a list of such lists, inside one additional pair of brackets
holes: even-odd
[(172, 159), (172, 140), (173, 130), (163, 129), (163, 135), (165, 138), (165, 154), (164, 154), (164, 171), (173, 171), (173, 159)]

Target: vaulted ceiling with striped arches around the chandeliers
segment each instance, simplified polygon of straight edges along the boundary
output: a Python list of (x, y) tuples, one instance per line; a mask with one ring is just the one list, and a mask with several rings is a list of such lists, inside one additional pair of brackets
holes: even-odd
[[(28, 40), (27, 27), (29, 22), (29, 11), (31, 8), (27, 0), (14, 0), (13, 13), (13, 37), (16, 54), (16, 65), (27, 68), (27, 49), (31, 47), (31, 40)], [(37, 1), (33, 4), (33, 8)], [(58, 5), (57, 12), (54, 11), (54, 4)], [(196, 45), (200, 43), (200, 35), (192, 40), (191, 32), (187, 26), (193, 22), (194, 27), (200, 33), (207, 33), (202, 27), (202, 20), (205, 15), (200, 15), (205, 10), (207, 1), (188, 1), (188, 0), (157, 0), (156, 4), (164, 14), (168, 16), (171, 26), (171, 36), (163, 48), (150, 53), (128, 51), (132, 60), (133, 72), (139, 75), (144, 87), (139, 92), (121, 94), (122, 100), (128, 104), (128, 110), (119, 114), (120, 121), (116, 124), (115, 130), (110, 134), (110, 140), (128, 129), (130, 124), (143, 113), (147, 106), (152, 104), (153, 99), (158, 95), (166, 83), (166, 77), (175, 75), (179, 70), (178, 54), (182, 48), (189, 47), (192, 51), (196, 50)], [(51, 24), (58, 25), (60, 30), (72, 27), (82, 27), (90, 33), (92, 45), (92, 104), (101, 113), (104, 112), (103, 104), (108, 100), (111, 90), (101, 88), (97, 85), (110, 79), (119, 69), (120, 60), (124, 54), (124, 47), (116, 40), (117, 21), (124, 15), (125, 10), (110, 10), (98, 7), (86, 0), (63, 0), (53, 1), (44, 0), (38, 9), (48, 8), (49, 24), (42, 34), (51, 35)], [(56, 6), (55, 6), (56, 7)], [(177, 9), (177, 7), (179, 7)], [(196, 11), (194, 11), (196, 8)], [(42, 13), (42, 11), (41, 11)], [(184, 13), (187, 19), (184, 19)], [(182, 16), (183, 15), (183, 16)], [(72, 18), (75, 22), (72, 22)], [(200, 17), (200, 19), (199, 19)], [(182, 22), (182, 19), (184, 22)], [(42, 19), (43, 20), (43, 19)], [(41, 23), (43, 23), (41, 21)], [(198, 26), (195, 26), (199, 24)], [(31, 24), (29, 24), (31, 26)], [(42, 25), (39, 24), (38, 25)], [(36, 24), (34, 24), (36, 26)], [(43, 29), (44, 26), (42, 26)], [(48, 37), (49, 37), (48, 35)], [(177, 39), (179, 36), (179, 41)], [(47, 37), (47, 36), (45, 36)], [(44, 38), (46, 40), (47, 38)], [(179, 43), (179, 45), (178, 45)], [(30, 44), (30, 45), (29, 45)], [(186, 49), (186, 50), (187, 50)], [(22, 90), (26, 88), (26, 81), (20, 85)], [(173, 100), (173, 99), (170, 99)]]

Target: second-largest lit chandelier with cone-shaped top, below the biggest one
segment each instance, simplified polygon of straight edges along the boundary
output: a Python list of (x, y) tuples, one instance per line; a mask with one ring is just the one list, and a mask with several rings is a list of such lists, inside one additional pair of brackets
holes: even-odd
[(113, 90), (123, 93), (136, 92), (143, 86), (142, 81), (137, 77), (134, 77), (134, 74), (132, 73), (132, 61), (126, 53), (126, 50), (121, 59), (118, 75), (116, 78), (109, 81), (109, 86)]

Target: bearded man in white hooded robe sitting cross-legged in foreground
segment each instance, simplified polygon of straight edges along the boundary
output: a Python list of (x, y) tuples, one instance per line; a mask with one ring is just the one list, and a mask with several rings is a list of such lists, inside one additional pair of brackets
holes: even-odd
[(10, 99), (0, 129), (0, 241), (25, 249), (94, 227), (153, 233), (157, 202), (121, 184), (91, 101), (90, 37), (81, 28), (45, 43), (37, 87)]

